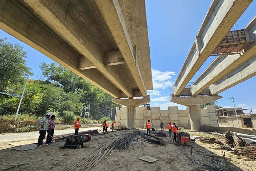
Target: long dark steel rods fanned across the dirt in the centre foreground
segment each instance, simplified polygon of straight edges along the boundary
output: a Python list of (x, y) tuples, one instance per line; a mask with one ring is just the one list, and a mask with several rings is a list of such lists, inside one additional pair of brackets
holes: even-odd
[[(146, 139), (147, 141), (150, 141), (155, 144), (164, 145), (166, 142), (162, 140), (159, 137), (152, 136), (152, 138), (146, 137), (145, 133), (142, 133), (141, 131), (134, 131), (131, 134), (128, 135), (122, 135), (119, 138), (115, 138), (114, 140), (110, 141), (108, 144), (104, 145), (102, 148), (94, 152), (92, 155), (90, 155), (87, 159), (84, 159), (81, 161), (77, 166), (71, 169), (74, 170), (77, 167), (81, 167), (81, 170), (89, 170), (93, 166), (95, 166), (97, 163), (99, 163), (104, 157), (106, 157), (111, 150), (113, 149), (129, 149), (129, 146), (132, 144), (134, 148), (140, 148), (143, 149), (143, 142), (144, 140), (141, 140), (141, 138)], [(144, 150), (144, 149), (143, 149)]]

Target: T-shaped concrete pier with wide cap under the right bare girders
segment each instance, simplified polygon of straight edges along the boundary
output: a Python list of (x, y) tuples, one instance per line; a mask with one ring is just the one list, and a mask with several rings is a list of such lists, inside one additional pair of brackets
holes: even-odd
[(188, 106), (191, 130), (199, 131), (203, 126), (200, 105), (220, 98), (222, 96), (172, 97), (171, 101)]

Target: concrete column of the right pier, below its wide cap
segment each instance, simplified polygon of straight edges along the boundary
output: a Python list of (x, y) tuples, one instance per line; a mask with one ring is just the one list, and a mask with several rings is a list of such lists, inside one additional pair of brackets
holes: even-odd
[(191, 130), (200, 131), (203, 126), (200, 105), (188, 106)]

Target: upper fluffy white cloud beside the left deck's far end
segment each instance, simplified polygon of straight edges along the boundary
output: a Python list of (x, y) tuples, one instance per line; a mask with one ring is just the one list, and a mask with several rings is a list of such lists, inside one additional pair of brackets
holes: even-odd
[(176, 75), (174, 71), (159, 71), (152, 69), (152, 79), (154, 89), (166, 89), (168, 86), (173, 86), (174, 80), (172, 75)]

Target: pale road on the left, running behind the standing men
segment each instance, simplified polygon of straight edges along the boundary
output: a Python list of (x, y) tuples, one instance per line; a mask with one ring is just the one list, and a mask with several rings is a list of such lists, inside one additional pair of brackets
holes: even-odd
[[(99, 129), (99, 127), (79, 128), (80, 131), (88, 131)], [(74, 129), (54, 130), (54, 135), (74, 133)], [(47, 134), (46, 134), (47, 135)], [(39, 131), (29, 133), (4, 133), (0, 134), (0, 149), (6, 149), (13, 146), (36, 143), (38, 140)]]

